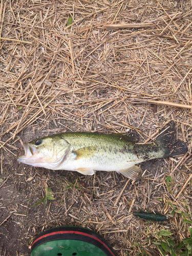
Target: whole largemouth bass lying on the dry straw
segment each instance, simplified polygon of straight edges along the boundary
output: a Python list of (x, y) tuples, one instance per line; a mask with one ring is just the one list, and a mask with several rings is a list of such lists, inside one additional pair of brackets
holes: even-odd
[(25, 156), (18, 162), (52, 170), (72, 170), (93, 175), (96, 170), (121, 173), (134, 179), (140, 167), (135, 164), (188, 151), (185, 142), (176, 139), (175, 123), (151, 144), (135, 144), (122, 134), (60, 133), (24, 144)]

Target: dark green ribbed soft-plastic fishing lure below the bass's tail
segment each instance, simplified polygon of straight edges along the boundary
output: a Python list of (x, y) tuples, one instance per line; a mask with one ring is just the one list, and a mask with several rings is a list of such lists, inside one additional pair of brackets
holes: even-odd
[(146, 212), (146, 211), (143, 211), (143, 210), (139, 210), (139, 211), (134, 211), (133, 216), (139, 217), (143, 220), (150, 220), (150, 221), (163, 222), (163, 221), (167, 220), (166, 216), (163, 215), (163, 214), (160, 214), (160, 212), (158, 212), (158, 211)]

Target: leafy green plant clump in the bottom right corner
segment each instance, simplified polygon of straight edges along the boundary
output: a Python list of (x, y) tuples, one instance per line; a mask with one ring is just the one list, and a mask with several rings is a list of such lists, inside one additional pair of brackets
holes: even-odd
[(153, 244), (157, 246), (162, 256), (166, 256), (169, 252), (172, 256), (192, 256), (192, 228), (189, 228), (190, 237), (182, 240), (182, 243), (176, 244), (174, 242), (174, 237), (168, 230), (161, 229), (156, 233), (156, 239), (152, 241)]

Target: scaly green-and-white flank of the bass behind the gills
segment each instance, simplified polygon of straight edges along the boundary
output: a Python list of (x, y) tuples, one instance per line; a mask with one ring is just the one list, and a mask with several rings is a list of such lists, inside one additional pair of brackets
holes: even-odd
[[(93, 133), (65, 133), (62, 134), (70, 145), (73, 146), (74, 152), (79, 148), (94, 147), (94, 154), (91, 157), (78, 159), (76, 162), (73, 155), (66, 161), (66, 165), (73, 161), (75, 165), (90, 167), (94, 170), (120, 170), (133, 165), (133, 162), (139, 161), (138, 157), (132, 153), (133, 144), (120, 139), (113, 135), (93, 134)], [(128, 152), (122, 153), (126, 146)], [(132, 159), (132, 162), (127, 163), (127, 159)], [(112, 166), (113, 165), (113, 166)], [(70, 167), (69, 167), (70, 168)]]

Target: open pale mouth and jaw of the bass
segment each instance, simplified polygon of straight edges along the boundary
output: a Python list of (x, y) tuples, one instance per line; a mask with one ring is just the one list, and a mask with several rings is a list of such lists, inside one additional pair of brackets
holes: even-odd
[(38, 159), (37, 148), (29, 145), (29, 143), (24, 143), (24, 150), (25, 150), (25, 155), (18, 157), (17, 162), (27, 163), (27, 164), (36, 163)]

